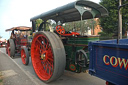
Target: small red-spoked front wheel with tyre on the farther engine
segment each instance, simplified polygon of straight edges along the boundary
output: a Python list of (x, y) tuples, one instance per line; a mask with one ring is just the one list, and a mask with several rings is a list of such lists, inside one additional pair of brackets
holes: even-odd
[(29, 52), (28, 52), (28, 48), (26, 47), (23, 47), (21, 49), (21, 60), (24, 65), (29, 64)]

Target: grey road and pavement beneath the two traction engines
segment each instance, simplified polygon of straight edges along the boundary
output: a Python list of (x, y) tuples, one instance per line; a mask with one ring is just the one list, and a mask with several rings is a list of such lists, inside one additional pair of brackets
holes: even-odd
[[(0, 48), (0, 85), (105, 85), (105, 81), (88, 73), (73, 73), (64, 71), (64, 74), (54, 82), (44, 83), (35, 74), (31, 58), (28, 66), (22, 64), (20, 55), (11, 59), (5, 53), (5, 48)], [(5, 62), (5, 63), (2, 63)], [(6, 67), (4, 65), (7, 65)], [(3, 78), (3, 79), (2, 79)]]

